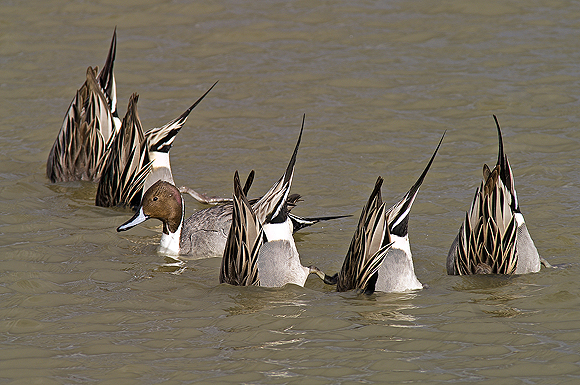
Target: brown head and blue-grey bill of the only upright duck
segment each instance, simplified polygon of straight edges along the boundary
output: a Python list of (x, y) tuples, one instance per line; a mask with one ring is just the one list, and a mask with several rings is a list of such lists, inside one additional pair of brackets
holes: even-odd
[(155, 182), (143, 195), (135, 215), (117, 231), (129, 230), (149, 218), (163, 222), (164, 234), (177, 232), (183, 219), (183, 199), (177, 187), (162, 180)]

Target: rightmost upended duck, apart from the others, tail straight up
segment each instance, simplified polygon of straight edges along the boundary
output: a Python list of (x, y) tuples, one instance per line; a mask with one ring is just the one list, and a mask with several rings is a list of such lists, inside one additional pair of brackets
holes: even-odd
[(497, 127), (499, 152), (483, 181), (447, 255), (447, 274), (525, 274), (540, 270), (542, 259), (528, 232)]

